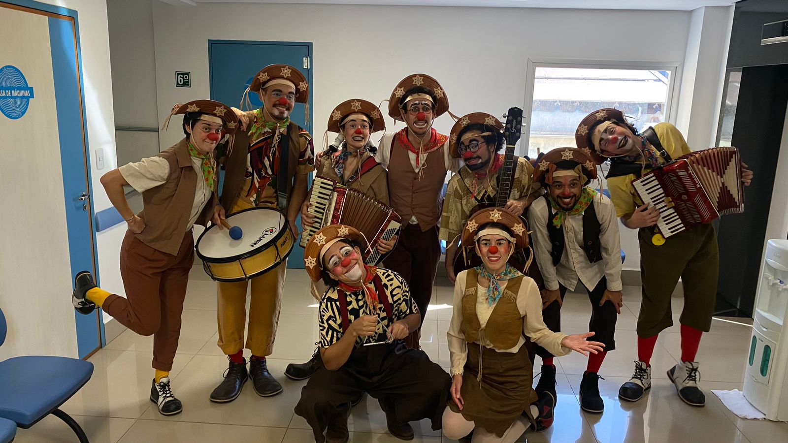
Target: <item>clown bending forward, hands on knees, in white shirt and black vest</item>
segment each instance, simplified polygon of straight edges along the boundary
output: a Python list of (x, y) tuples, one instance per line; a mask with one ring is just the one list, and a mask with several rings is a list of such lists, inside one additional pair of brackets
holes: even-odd
[[(597, 178), (597, 165), (578, 148), (559, 147), (537, 162), (533, 181), (546, 190), (544, 198), (533, 202), (528, 222), (533, 229), (533, 248), (545, 281), (542, 317), (552, 331), (561, 330), (561, 306), (567, 289), (580, 282), (591, 302), (589, 328), (604, 352), (589, 356), (580, 384), (580, 407), (600, 413), (604, 403), (599, 394), (597, 373), (604, 356), (615, 349), (616, 314), (621, 313), (622, 283), (619, 253), (619, 222), (613, 203), (587, 187)], [(536, 387), (539, 410), (556, 404), (556, 367), (545, 348), (537, 348), (542, 358), (541, 378)]]

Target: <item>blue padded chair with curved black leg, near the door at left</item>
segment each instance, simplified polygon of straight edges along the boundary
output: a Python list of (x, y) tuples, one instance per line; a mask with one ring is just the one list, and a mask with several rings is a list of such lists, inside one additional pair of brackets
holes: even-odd
[[(6, 341), (6, 317), (0, 310), (0, 345)], [(22, 429), (54, 415), (69, 425), (80, 443), (87, 443), (84, 430), (60, 406), (79, 391), (93, 375), (93, 363), (80, 359), (20, 356), (0, 362), (0, 420)], [(0, 423), (0, 441), (5, 428)], [(13, 433), (10, 434), (13, 439)]]

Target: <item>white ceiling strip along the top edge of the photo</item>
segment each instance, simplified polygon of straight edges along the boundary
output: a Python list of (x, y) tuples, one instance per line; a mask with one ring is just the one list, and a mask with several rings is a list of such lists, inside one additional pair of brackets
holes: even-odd
[(552, 9), (639, 9), (690, 11), (702, 6), (730, 6), (736, 0), (162, 0), (195, 3), (310, 3), (322, 5), (486, 6)]

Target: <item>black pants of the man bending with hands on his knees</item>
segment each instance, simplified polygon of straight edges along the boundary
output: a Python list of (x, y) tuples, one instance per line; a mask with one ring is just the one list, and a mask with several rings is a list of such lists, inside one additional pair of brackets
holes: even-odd
[[(578, 281), (582, 285), (580, 281)], [(585, 285), (583, 285), (585, 288)], [(567, 295), (567, 288), (564, 285), (559, 285), (561, 292), (561, 301)], [(618, 313), (615, 311), (615, 306), (611, 301), (605, 302), (602, 306), (599, 305), (600, 300), (604, 296), (605, 289), (608, 289), (608, 280), (605, 277), (597, 283), (597, 286), (590, 290), (585, 288), (589, 294), (589, 301), (591, 302), (591, 320), (589, 320), (589, 331), (594, 335), (591, 337), (593, 341), (600, 341), (604, 343), (604, 351), (612, 351), (615, 349), (615, 321), (618, 318)], [(542, 311), (542, 318), (545, 319), (545, 325), (552, 332), (561, 332), (561, 307), (557, 301), (550, 303), (548, 307)], [(553, 355), (545, 348), (537, 346), (537, 356), (543, 359), (548, 359)]]

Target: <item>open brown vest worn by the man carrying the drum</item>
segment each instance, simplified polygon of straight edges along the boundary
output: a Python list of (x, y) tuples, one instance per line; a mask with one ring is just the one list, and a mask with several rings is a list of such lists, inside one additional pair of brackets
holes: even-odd
[[(290, 149), (288, 154), (288, 191), (292, 190), (293, 179), (296, 178), (296, 167), (298, 166), (298, 158), (301, 152), (301, 144), (299, 140), (299, 125), (290, 122), (288, 125), (288, 134), (290, 135)], [(279, 143), (281, 144), (281, 135), (279, 136)], [(246, 168), (247, 157), (249, 155), (249, 132), (238, 131), (236, 132), (236, 139), (232, 143), (232, 151), (225, 158), (225, 178), (222, 181), (221, 188), (221, 206), (225, 207), (225, 212), (229, 214), (232, 207), (235, 207), (236, 200), (238, 199), (241, 188), (246, 182)], [(281, 149), (281, 146), (277, 147)], [(280, 151), (281, 155), (281, 151)], [(291, 193), (292, 195), (292, 193)], [(288, 195), (288, 203), (289, 203)]]

